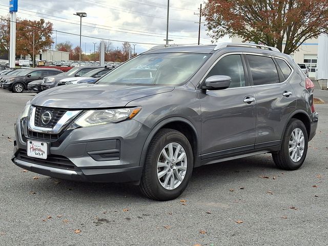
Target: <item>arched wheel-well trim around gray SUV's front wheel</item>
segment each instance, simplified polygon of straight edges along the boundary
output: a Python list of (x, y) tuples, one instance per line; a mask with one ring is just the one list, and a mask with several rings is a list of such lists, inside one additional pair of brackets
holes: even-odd
[(196, 141), (197, 141), (197, 153), (194, 153), (194, 167), (198, 167), (199, 165), (197, 165), (197, 163), (200, 163), (200, 157), (199, 157), (199, 149), (200, 149), (200, 140), (197, 134), (197, 130), (195, 128), (195, 126), (192, 124), (191, 121), (189, 121), (186, 118), (183, 117), (170, 117), (170, 118), (166, 118), (163, 119), (162, 121), (158, 122), (158, 124), (150, 131), (148, 137), (146, 138), (144, 147), (142, 148), (141, 151), (141, 156), (140, 156), (140, 162), (139, 162), (139, 166), (144, 166), (145, 160), (146, 160), (146, 154), (147, 154), (147, 150), (148, 147), (150, 145), (151, 140), (153, 139), (154, 135), (159, 131), (159, 129), (161, 129), (163, 126), (165, 126), (166, 124), (173, 122), (173, 121), (181, 121), (181, 122), (185, 122), (186, 124), (188, 124), (194, 131), (195, 135), (196, 135)]

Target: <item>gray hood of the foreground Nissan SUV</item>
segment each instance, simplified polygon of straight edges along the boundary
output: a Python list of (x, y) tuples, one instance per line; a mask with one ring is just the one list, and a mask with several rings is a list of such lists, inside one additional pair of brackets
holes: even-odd
[(66, 85), (37, 94), (31, 104), (69, 109), (124, 107), (132, 100), (173, 90), (174, 87), (157, 86)]

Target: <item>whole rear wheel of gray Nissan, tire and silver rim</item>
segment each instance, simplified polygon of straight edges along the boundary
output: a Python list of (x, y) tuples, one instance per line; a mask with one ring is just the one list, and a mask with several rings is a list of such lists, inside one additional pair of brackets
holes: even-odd
[(277, 167), (285, 170), (299, 169), (308, 152), (308, 133), (302, 121), (291, 119), (282, 137), (281, 150), (272, 153)]

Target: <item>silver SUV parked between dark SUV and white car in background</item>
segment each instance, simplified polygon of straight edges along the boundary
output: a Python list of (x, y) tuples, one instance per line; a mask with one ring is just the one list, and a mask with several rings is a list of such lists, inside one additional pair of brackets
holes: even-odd
[(61, 79), (71, 78), (71, 77), (82, 77), (84, 74), (90, 72), (100, 67), (74, 67), (65, 74), (59, 74), (57, 76), (45, 77), (43, 83), (41, 84), (41, 90), (47, 90), (49, 88), (56, 87)]

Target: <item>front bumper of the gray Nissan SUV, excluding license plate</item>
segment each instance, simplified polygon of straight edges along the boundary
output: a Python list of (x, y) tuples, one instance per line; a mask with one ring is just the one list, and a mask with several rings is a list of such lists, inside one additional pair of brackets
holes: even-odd
[[(25, 128), (25, 129), (24, 129)], [(14, 155), (18, 167), (54, 178), (138, 184), (140, 154), (150, 129), (133, 119), (118, 124), (78, 128), (56, 141), (26, 136), (24, 121), (15, 126)], [(48, 158), (26, 154), (27, 139), (47, 142)]]

